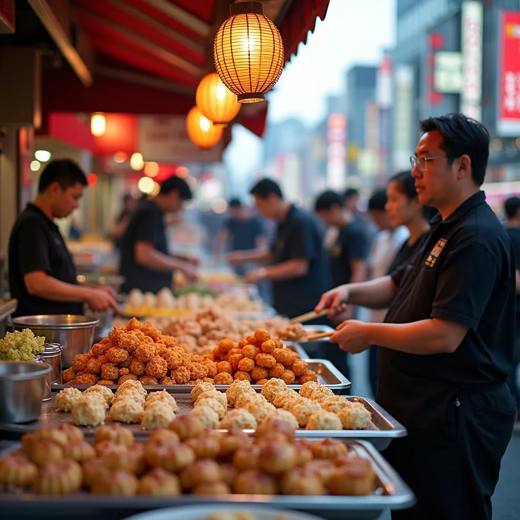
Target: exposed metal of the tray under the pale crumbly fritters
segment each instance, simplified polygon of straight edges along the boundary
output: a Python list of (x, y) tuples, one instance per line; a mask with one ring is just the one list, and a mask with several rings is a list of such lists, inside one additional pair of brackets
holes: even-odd
[[(71, 423), (72, 417), (69, 412), (59, 412), (55, 407), (55, 397), (44, 401), (42, 413), (37, 421), (25, 424), (0, 423), (0, 431), (23, 434), (33, 432), (38, 428), (55, 428), (62, 423)], [(383, 410), (372, 399), (364, 397), (345, 397), (349, 401), (360, 402), (372, 415), (370, 428), (368, 430), (297, 430), (297, 437), (316, 438), (334, 437), (338, 439), (359, 439), (370, 441), (377, 449), (384, 450), (391, 443), (392, 439), (404, 437), (407, 434), (406, 428), (396, 421), (392, 415)], [(193, 410), (193, 401), (189, 394), (175, 394), (178, 410), (176, 415), (185, 415)], [(113, 424), (108, 414), (105, 424)], [(120, 423), (121, 424), (121, 423)], [(140, 424), (121, 424), (123, 428), (131, 430), (136, 437), (148, 437), (150, 430), (143, 430)], [(85, 435), (92, 436), (96, 427), (80, 426)], [(225, 431), (225, 430), (222, 430)], [(246, 433), (254, 433), (254, 430), (244, 430)]]

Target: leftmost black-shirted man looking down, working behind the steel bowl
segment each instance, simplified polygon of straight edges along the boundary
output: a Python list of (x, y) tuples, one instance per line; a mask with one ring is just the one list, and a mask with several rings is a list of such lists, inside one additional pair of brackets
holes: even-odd
[(18, 300), (14, 316), (83, 314), (117, 308), (115, 291), (86, 287), (76, 280), (76, 268), (55, 218), (68, 217), (87, 186), (81, 168), (68, 159), (51, 161), (42, 172), (38, 194), (16, 219), (9, 239), (9, 286)]

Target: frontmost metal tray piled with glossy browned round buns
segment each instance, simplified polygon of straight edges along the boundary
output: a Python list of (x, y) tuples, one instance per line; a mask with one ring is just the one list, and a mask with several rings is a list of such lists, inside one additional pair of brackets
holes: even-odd
[(56, 513), (71, 506), (135, 510), (237, 500), (381, 512), (413, 501), (370, 444), (297, 439), (276, 419), (253, 437), (209, 430), (194, 415), (154, 430), (144, 442), (121, 428), (99, 431), (89, 440), (72, 425), (25, 434), (21, 448), (0, 459), (3, 513), (24, 515), (26, 508), (51, 504)]

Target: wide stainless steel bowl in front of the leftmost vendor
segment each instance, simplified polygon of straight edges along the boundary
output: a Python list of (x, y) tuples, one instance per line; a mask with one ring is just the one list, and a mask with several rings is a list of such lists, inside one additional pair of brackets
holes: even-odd
[(47, 343), (63, 345), (61, 364), (69, 368), (76, 354), (86, 354), (92, 347), (99, 320), (73, 314), (20, 316), (12, 319), (15, 330), (31, 329), (36, 336), (45, 336)]

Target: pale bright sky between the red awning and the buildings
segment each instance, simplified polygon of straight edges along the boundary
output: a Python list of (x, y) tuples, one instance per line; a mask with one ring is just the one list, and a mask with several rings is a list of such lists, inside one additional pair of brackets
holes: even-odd
[[(330, 0), (325, 20), (318, 19), (268, 95), (269, 121), (294, 117), (309, 126), (319, 123), (327, 95), (344, 90), (346, 71), (354, 64), (378, 63), (393, 45), (395, 6), (396, 0)], [(247, 183), (259, 167), (261, 147), (249, 131), (233, 127), (225, 162), (234, 182)]]

